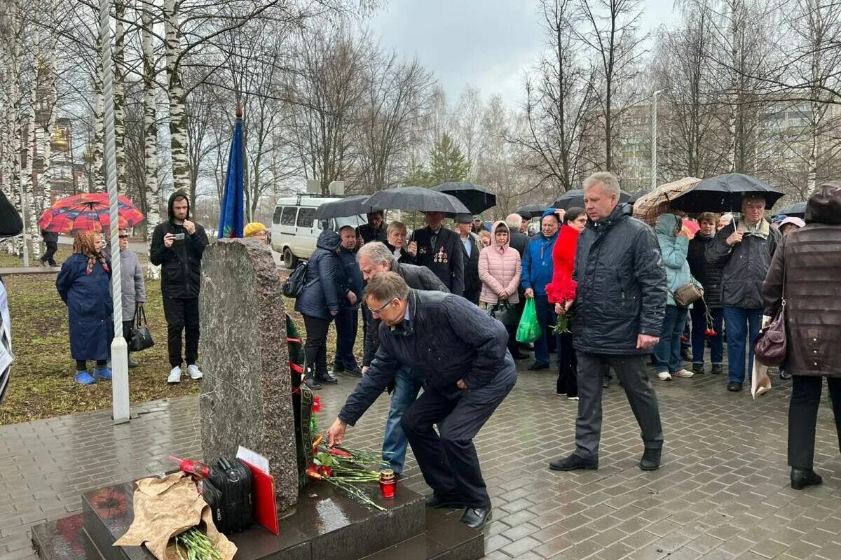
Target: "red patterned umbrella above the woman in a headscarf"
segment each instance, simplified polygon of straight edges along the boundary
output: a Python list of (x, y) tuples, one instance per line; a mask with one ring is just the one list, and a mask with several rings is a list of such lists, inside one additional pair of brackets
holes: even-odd
[[(137, 225), (145, 219), (126, 196), (119, 196), (119, 228)], [(38, 227), (55, 233), (101, 232), (111, 225), (107, 192), (86, 192), (56, 201), (38, 219)]]

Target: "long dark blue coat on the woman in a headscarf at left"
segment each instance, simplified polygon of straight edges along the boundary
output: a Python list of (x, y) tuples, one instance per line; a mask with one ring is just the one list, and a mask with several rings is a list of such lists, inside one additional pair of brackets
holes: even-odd
[(70, 314), (70, 355), (72, 359), (108, 359), (114, 339), (114, 301), (108, 272), (99, 262), (87, 274), (87, 257), (72, 254), (61, 265), (56, 290)]

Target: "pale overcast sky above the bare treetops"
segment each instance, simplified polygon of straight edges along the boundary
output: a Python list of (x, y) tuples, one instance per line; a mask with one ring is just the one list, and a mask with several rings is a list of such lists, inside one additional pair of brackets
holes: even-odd
[[(644, 30), (674, 18), (673, 0), (643, 0)], [(535, 0), (390, 0), (374, 15), (373, 36), (435, 72), (450, 102), (464, 86), (485, 99), (521, 100), (522, 68), (543, 47)]]

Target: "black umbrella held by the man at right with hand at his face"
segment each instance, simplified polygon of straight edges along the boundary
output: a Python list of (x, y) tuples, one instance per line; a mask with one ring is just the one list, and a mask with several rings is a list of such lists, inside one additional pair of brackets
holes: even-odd
[(763, 196), (766, 207), (770, 208), (784, 194), (750, 175), (727, 173), (705, 179), (675, 196), (670, 206), (684, 212), (742, 212), (745, 195)]

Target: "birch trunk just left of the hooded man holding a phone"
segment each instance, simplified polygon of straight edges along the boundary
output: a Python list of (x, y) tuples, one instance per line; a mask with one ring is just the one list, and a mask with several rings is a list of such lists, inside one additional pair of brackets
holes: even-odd
[[(161, 222), (161, 193), (157, 181), (157, 119), (155, 105), (155, 58), (152, 50), (151, 0), (145, 0), (140, 15), (143, 48), (143, 168), (146, 196), (146, 242), (151, 243), (152, 232)], [(146, 267), (146, 278), (158, 280), (161, 267), (151, 264)]]

